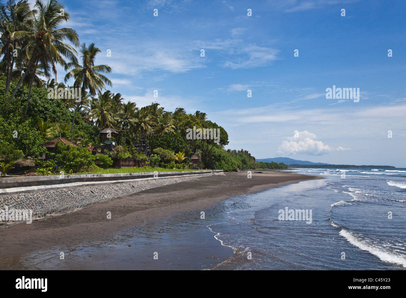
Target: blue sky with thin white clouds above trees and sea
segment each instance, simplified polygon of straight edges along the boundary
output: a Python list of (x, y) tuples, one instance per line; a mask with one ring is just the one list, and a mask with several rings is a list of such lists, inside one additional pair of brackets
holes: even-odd
[[(138, 107), (204, 111), (256, 158), (406, 167), (403, 0), (62, 2)], [(359, 102), (326, 99), (333, 85)]]

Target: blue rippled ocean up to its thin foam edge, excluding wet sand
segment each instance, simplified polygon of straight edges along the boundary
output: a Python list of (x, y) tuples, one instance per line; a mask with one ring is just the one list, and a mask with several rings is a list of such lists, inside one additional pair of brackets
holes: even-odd
[[(406, 169), (294, 171), (326, 179), (234, 198), (243, 204), (229, 207), (229, 220), (209, 225), (223, 245), (235, 250), (216, 268), (406, 268)], [(312, 222), (279, 220), (279, 210), (286, 207), (312, 210)]]

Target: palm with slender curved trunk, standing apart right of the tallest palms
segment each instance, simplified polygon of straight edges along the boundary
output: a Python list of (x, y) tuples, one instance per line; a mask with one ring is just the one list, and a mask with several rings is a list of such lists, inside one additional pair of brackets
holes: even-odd
[[(82, 97), (85, 96), (86, 89), (89, 89), (89, 94), (95, 96), (96, 92), (101, 93), (102, 89), (106, 89), (105, 84), (112, 86), (111, 81), (99, 72), (110, 73), (111, 67), (108, 65), (95, 65), (95, 58), (97, 53), (101, 53), (98, 47), (95, 47), (94, 43), (91, 43), (89, 47), (86, 47), (86, 43), (83, 43), (80, 47), (80, 54), (82, 58), (82, 65), (78, 63), (68, 63), (68, 67), (75, 67), (65, 76), (65, 82), (73, 77), (75, 88), (82, 87)], [(71, 141), (73, 137), (73, 124), (75, 123), (76, 113), (78, 112), (80, 102), (76, 105), (75, 114), (73, 115), (71, 126)]]

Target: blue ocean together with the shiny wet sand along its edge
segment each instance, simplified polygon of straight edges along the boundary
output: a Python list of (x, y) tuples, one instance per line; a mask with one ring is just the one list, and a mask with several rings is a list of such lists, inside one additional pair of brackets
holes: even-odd
[[(18, 266), (96, 270), (406, 268), (406, 169), (294, 172), (325, 179), (231, 197), (206, 210), (179, 212), (164, 221), (128, 229), (109, 240), (37, 251), (22, 257)], [(59, 252), (65, 253), (64, 260), (55, 257)]]

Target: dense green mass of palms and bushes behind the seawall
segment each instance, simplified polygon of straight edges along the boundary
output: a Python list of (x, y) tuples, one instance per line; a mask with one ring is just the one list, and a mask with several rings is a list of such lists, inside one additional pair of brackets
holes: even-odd
[[(3, 174), (21, 159), (34, 161), (39, 166), (37, 173), (42, 175), (60, 171), (98, 173), (110, 167), (114, 158), (131, 158), (146, 166), (189, 169), (194, 154), (200, 158), (199, 167), (207, 169), (286, 168), (284, 164), (258, 163), (246, 150), (226, 151), (227, 132), (201, 111), (187, 114), (183, 108), (166, 111), (156, 102), (145, 107), (125, 102), (121, 94), (107, 89), (112, 86), (107, 77), (112, 69), (96, 65), (100, 49), (94, 43), (80, 44), (76, 31), (63, 27), (67, 20), (69, 13), (56, 0), (37, 0), (33, 8), (27, 0), (0, 3)], [(57, 80), (58, 64), (67, 71), (63, 82)], [(73, 86), (65, 85), (69, 80), (73, 80)], [(79, 100), (73, 94), (75, 90), (80, 90)], [(186, 131), (193, 126), (219, 129), (218, 143), (213, 139), (188, 139)], [(117, 146), (111, 152), (97, 154), (103, 144), (99, 131), (106, 127), (118, 132), (113, 137)], [(46, 151), (41, 145), (56, 137), (69, 139), (78, 147), (57, 144), (52, 159), (38, 160)], [(140, 139), (148, 140), (151, 156), (137, 149)]]

